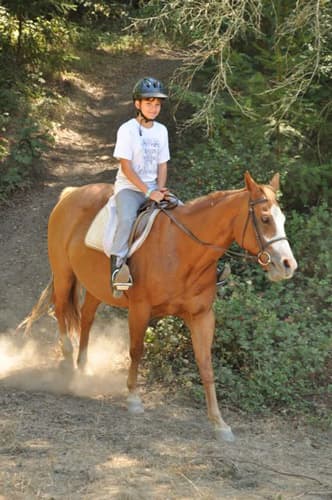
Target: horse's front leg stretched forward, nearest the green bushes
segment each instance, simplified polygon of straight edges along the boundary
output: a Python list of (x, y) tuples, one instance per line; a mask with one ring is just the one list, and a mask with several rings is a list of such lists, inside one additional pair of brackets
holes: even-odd
[(222, 419), (216, 396), (214, 373), (212, 368), (211, 347), (215, 330), (215, 318), (212, 309), (186, 321), (190, 331), (195, 359), (205, 389), (208, 417), (214, 425), (217, 438), (234, 441), (231, 428)]

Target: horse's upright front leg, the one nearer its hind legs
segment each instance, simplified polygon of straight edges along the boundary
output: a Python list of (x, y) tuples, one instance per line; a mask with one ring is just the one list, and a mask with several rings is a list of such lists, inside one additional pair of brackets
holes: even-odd
[(127, 408), (130, 413), (143, 413), (144, 407), (137, 391), (138, 367), (144, 351), (144, 334), (150, 320), (150, 309), (144, 304), (129, 307), (130, 367), (127, 386)]

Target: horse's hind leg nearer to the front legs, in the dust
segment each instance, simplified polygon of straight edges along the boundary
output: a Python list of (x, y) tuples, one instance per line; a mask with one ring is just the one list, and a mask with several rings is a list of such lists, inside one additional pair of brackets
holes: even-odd
[(99, 304), (100, 300), (86, 291), (81, 309), (80, 347), (77, 358), (77, 366), (81, 370), (87, 365), (90, 329)]

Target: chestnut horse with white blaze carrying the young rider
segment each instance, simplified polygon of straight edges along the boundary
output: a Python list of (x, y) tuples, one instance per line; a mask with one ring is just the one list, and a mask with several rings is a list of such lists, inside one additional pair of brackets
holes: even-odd
[[(208, 419), (217, 438), (233, 441), (231, 427), (219, 410), (211, 363), (218, 260), (237, 242), (272, 281), (291, 278), (297, 268), (284, 230), (285, 216), (277, 202), (279, 174), (267, 185), (258, 184), (249, 172), (244, 180), (241, 189), (214, 191), (173, 208), (171, 217), (167, 211), (160, 212), (144, 244), (130, 257), (134, 285), (118, 298), (110, 287), (109, 258), (84, 243), (91, 222), (113, 194), (113, 186), (99, 183), (65, 188), (48, 223), (52, 276), (22, 324), (29, 329), (36, 319), (52, 309), (64, 361), (74, 367), (70, 336), (76, 331), (77, 366), (84, 370), (98, 306), (106, 303), (127, 308), (130, 336), (127, 408), (132, 413), (141, 413), (144, 407), (137, 389), (137, 375), (145, 331), (152, 318), (166, 315), (181, 318), (190, 330)], [(83, 301), (81, 288), (85, 289)]]

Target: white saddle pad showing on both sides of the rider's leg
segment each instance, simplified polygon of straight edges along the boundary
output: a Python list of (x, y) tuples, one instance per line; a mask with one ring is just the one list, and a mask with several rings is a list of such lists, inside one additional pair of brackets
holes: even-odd
[[(115, 233), (115, 228), (117, 225), (116, 210), (114, 206), (114, 200), (110, 198), (109, 202), (97, 213), (93, 219), (88, 232), (86, 233), (84, 243), (89, 248), (94, 250), (99, 250), (104, 252), (108, 257), (112, 253), (112, 243)], [(145, 239), (149, 235), (155, 218), (159, 214), (160, 210), (155, 209), (147, 221), (146, 227), (144, 228), (142, 234), (131, 244), (128, 252), (128, 257), (130, 257), (136, 250), (138, 250)], [(131, 238), (129, 239), (131, 241)]]

